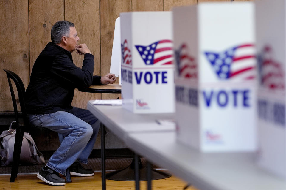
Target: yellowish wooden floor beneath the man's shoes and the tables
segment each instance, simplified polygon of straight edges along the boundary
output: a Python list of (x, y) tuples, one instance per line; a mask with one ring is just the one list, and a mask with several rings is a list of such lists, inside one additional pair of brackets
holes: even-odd
[[(91, 177), (72, 177), (72, 183), (66, 183), (65, 186), (52, 186), (36, 177), (36, 174), (18, 174), (14, 183), (10, 183), (10, 175), (0, 175), (0, 190), (101, 190), (101, 173), (96, 172)], [(153, 180), (152, 189), (154, 190), (183, 190), (187, 185), (175, 176), (170, 178)], [(106, 180), (107, 190), (135, 190), (134, 181), (114, 181)], [(146, 181), (140, 182), (140, 189), (147, 189)], [(197, 190), (190, 186), (186, 190)]]

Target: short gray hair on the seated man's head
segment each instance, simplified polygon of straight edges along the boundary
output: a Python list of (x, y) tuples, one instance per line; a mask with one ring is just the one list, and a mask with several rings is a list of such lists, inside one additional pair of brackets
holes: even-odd
[(57, 21), (51, 30), (52, 42), (59, 44), (63, 36), (69, 37), (69, 27), (74, 27), (74, 23), (69, 21)]

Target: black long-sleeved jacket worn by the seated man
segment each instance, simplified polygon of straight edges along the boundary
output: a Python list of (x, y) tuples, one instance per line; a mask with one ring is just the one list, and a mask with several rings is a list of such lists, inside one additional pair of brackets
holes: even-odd
[(101, 85), (100, 76), (93, 76), (94, 56), (85, 54), (83, 66), (74, 65), (71, 53), (49, 42), (35, 61), (25, 93), (28, 114), (69, 111), (74, 89)]

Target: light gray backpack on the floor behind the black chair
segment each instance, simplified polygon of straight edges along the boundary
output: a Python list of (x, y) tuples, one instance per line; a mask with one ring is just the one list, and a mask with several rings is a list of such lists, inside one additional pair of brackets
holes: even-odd
[[(2, 134), (0, 135), (1, 166), (11, 165), (13, 161), (16, 130), (11, 128), (12, 123), (10, 124), (10, 129), (7, 131), (3, 131)], [(24, 165), (45, 164), (43, 154), (38, 150), (33, 138), (29, 133), (24, 133), (19, 164), (24, 164)]]

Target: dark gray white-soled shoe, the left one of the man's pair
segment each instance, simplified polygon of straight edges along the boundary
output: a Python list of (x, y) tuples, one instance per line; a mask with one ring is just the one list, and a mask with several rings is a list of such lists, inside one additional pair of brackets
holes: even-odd
[(59, 173), (50, 168), (45, 170), (44, 167), (42, 167), (37, 177), (51, 185), (66, 185), (65, 180), (60, 177)]

